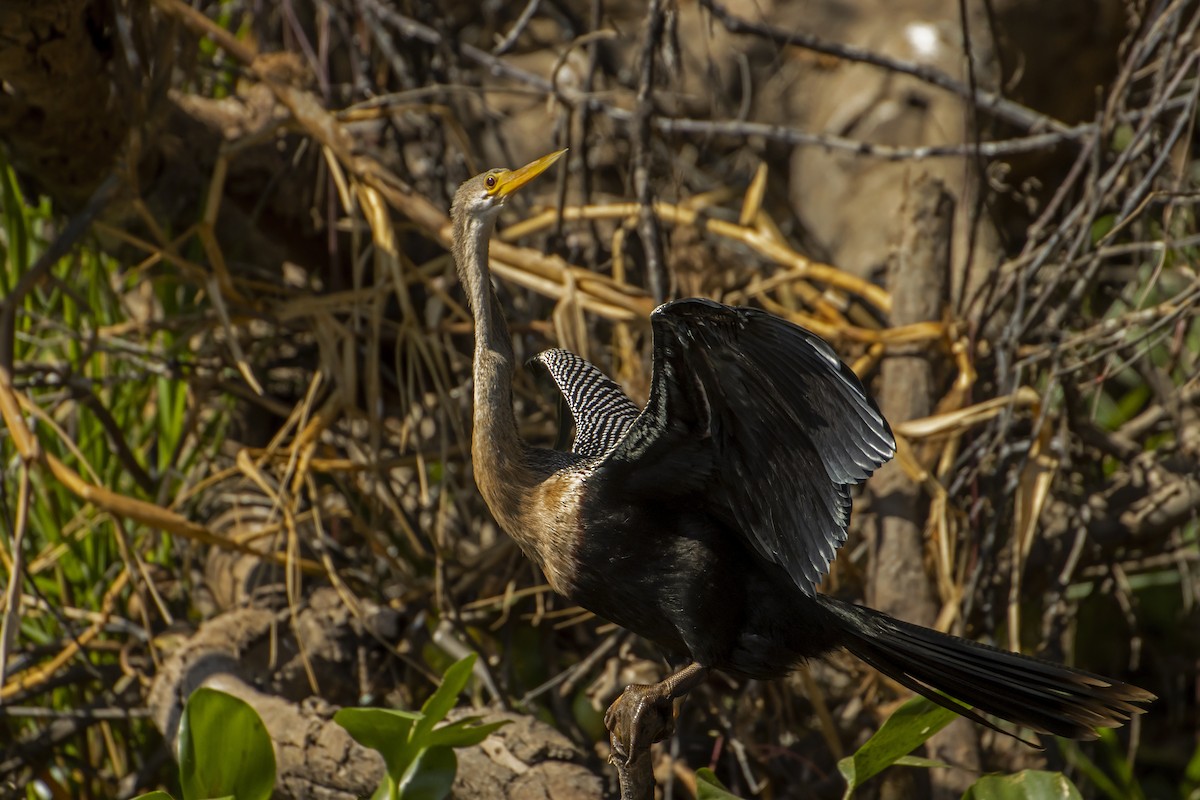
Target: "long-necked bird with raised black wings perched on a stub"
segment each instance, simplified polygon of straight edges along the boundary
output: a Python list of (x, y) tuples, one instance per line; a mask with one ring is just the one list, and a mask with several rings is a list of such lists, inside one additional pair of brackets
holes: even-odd
[(546, 350), (532, 363), (575, 439), (523, 440), (488, 241), (506, 200), (564, 152), (462, 184), (451, 241), (474, 323), (472, 468), (487, 507), (556, 593), (686, 660), (610, 706), (616, 758), (670, 735), (674, 700), (713, 669), (774, 679), (838, 649), (1002, 733), (985, 715), (1093, 739), (1156, 699), (817, 590), (846, 541), (851, 488), (895, 438), (834, 349), (780, 317), (700, 297), (659, 306), (642, 408), (584, 359)]

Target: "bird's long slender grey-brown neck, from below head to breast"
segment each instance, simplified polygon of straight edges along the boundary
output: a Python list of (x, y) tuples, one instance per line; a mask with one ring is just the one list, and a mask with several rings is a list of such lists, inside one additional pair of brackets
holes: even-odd
[[(475, 403), (472, 458), (475, 482), (502, 525), (516, 522), (530, 483), (526, 449), (512, 413), (512, 338), (492, 290), (487, 240), (493, 222), (455, 209), (454, 257), (475, 320)], [(512, 533), (510, 530), (510, 533)]]

